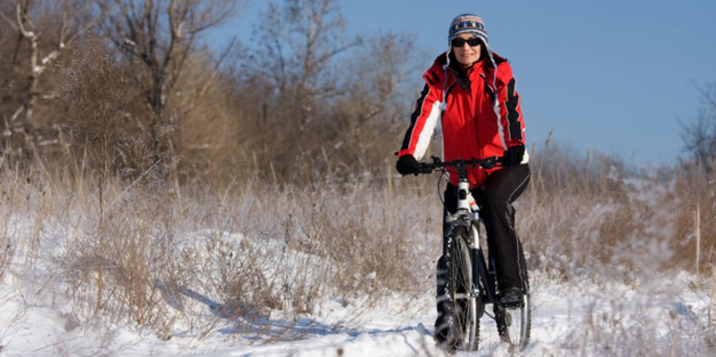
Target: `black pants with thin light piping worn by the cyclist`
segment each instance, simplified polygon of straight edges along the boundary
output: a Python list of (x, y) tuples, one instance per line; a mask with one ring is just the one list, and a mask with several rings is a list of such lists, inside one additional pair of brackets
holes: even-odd
[[(490, 260), (495, 263), (498, 288), (522, 288), (522, 276), (519, 266), (520, 248), (517, 232), (515, 231), (515, 209), (512, 203), (525, 190), (530, 181), (530, 169), (525, 165), (509, 166), (493, 172), (478, 188), (471, 191), (480, 206), (480, 217), (485, 223), (488, 238), (488, 253)], [(448, 183), (445, 188), (445, 216), (447, 212), (455, 213), (458, 210), (458, 188)], [(437, 321), (435, 331), (440, 333), (445, 327), (445, 312), (448, 311), (449, 301), (445, 294), (445, 253), (450, 247), (445, 241), (447, 224), (443, 223), (442, 256), (437, 261)]]

